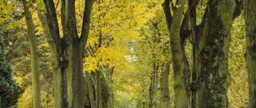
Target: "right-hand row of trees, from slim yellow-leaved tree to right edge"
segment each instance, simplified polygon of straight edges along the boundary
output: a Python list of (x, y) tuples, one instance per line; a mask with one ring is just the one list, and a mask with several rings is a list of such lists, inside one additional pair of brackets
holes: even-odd
[[(254, 14), (252, 12), (252, 5), (255, 6), (255, 3), (253, 1), (207, 1), (202, 21), (198, 23), (196, 21), (198, 19), (196, 17), (198, 13), (196, 11), (198, 2), (200, 1), (189, 1), (188, 8), (185, 7), (186, 1), (173, 3), (172, 1), (166, 0), (163, 3), (164, 15), (167, 22), (166, 27), (170, 34), (170, 47), (167, 46), (167, 49), (170, 48), (172, 53), (175, 107), (229, 106), (227, 92), (228, 86), (232, 81), (228, 72), (230, 32), (232, 22), (242, 13), (243, 7), (247, 6), (246, 3), (250, 3), (250, 6), (248, 6), (250, 8), (244, 8), (244, 19), (246, 21), (246, 54), (244, 56), (246, 58), (249, 81), (248, 107), (255, 107), (255, 99), (253, 99), (255, 97), (255, 94), (253, 94), (255, 75), (252, 74), (255, 73), (255, 61), (252, 61), (255, 60), (253, 58), (253, 53), (255, 53), (255, 34), (254, 40), (252, 40), (252, 34), (249, 33), (252, 30), (251, 27), (255, 27), (253, 25), (255, 21), (252, 20), (255, 17), (250, 16)], [(161, 16), (161, 13), (157, 15)], [(248, 21), (248, 18), (250, 18), (250, 21)], [(159, 28), (160, 30), (163, 29), (163, 26), (159, 27), (159, 25), (161, 26), (161, 20), (154, 19), (150, 22), (153, 26), (150, 29), (156, 32), (151, 37), (153, 39), (151, 40), (153, 44), (151, 44), (152, 47), (150, 48), (153, 50), (151, 53), (152, 56), (145, 56), (150, 56), (157, 60), (153, 60), (151, 63), (152, 73), (150, 76), (149, 107), (158, 106), (158, 76), (161, 77), (160, 107), (170, 107), (168, 90), (170, 63), (168, 62), (168, 57), (164, 58), (164, 60), (161, 60), (161, 57), (156, 57), (157, 54), (155, 52), (161, 53), (161, 50), (164, 51), (164, 48), (163, 46), (157, 47), (154, 45), (166, 43), (161, 42), (164, 38), (162, 37), (161, 39), (160, 37), (165, 34), (164, 32), (161, 32), (163, 34), (159, 33)], [(145, 35), (150, 36), (148, 34)], [(191, 51), (185, 50), (188, 39), (191, 43)], [(142, 41), (139, 44), (142, 43), (144, 42)], [(143, 48), (143, 46), (140, 48)], [(185, 51), (191, 52), (192, 62), (189, 62), (187, 58), (188, 52)], [(249, 52), (250, 54), (248, 54)]]

